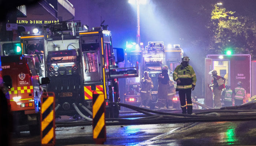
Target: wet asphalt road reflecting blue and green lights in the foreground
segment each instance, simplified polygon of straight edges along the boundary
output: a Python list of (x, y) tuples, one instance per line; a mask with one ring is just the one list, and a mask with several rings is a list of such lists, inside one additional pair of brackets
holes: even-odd
[[(256, 145), (256, 121), (195, 122), (106, 126), (105, 145)], [(92, 126), (56, 128), (56, 146), (95, 144)], [(12, 138), (13, 146), (38, 146), (28, 131)]]

